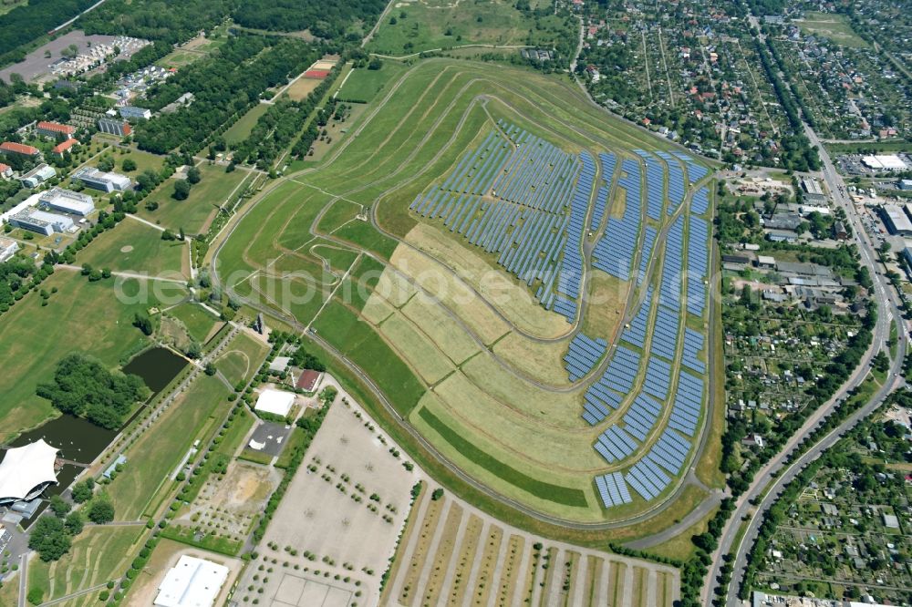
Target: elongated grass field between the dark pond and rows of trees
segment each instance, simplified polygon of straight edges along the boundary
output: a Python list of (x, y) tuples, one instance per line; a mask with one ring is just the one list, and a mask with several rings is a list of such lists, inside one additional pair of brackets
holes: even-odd
[(200, 375), (144, 432), (125, 455), (127, 464), (108, 487), (118, 520), (151, 516), (151, 500), (171, 483), (171, 473), (212, 416), (227, 410), (230, 391), (216, 377)]

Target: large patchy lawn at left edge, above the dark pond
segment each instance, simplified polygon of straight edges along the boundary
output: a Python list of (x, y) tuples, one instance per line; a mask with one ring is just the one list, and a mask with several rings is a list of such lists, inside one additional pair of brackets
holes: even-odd
[[(0, 374), (0, 390), (5, 395), (0, 400), (4, 420), (0, 434), (4, 441), (55, 415), (47, 400), (36, 396), (35, 388), (51, 379), (64, 355), (77, 350), (116, 366), (149, 344), (132, 322), (135, 313), (159, 304), (155, 289), (149, 288), (146, 298), (140, 296), (140, 283), (126, 281), (122, 291), (130, 301), (119, 298), (115, 284), (114, 279), (89, 283), (76, 272), (57, 270), (41, 285), (48, 292), (58, 290), (47, 306), (41, 305), (36, 293), (29, 293), (0, 317), (0, 359), (5, 361)], [(181, 296), (186, 293), (179, 285), (167, 288)], [(36, 331), (39, 326), (41, 331)]]

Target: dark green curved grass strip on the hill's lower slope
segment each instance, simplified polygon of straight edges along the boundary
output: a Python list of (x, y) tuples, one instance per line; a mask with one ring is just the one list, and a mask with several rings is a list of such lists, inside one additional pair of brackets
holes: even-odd
[(422, 408), (418, 415), (428, 426), (434, 428), (440, 437), (443, 437), (453, 448), (461, 453), (464, 458), (469, 459), (482, 468), (491, 472), (495, 477), (500, 478), (511, 485), (528, 491), (536, 498), (547, 499), (565, 506), (574, 508), (586, 508), (586, 494), (582, 489), (572, 489), (546, 483), (536, 478), (526, 476), (516, 468), (507, 466), (502, 461), (492, 458), (491, 455), (475, 447), (471, 442), (461, 437), (451, 427), (444, 424), (439, 417), (435, 416), (427, 408)]

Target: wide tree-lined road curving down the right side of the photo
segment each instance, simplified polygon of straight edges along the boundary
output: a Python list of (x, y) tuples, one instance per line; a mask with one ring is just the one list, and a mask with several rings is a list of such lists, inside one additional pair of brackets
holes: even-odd
[[(855, 210), (854, 202), (846, 193), (845, 182), (835, 170), (833, 161), (830, 159), (829, 154), (826, 152), (826, 149), (824, 149), (824, 146), (816, 133), (814, 133), (814, 130), (807, 125), (805, 125), (804, 129), (808, 139), (811, 140), (811, 144), (816, 145), (819, 149), (820, 159), (823, 164), (819, 177), (824, 180), (824, 183), (834, 197), (835, 203), (845, 210), (846, 217), (855, 232), (855, 239), (858, 243), (858, 252), (861, 262), (868, 268), (871, 273), (871, 278), (874, 281), (874, 298), (877, 303), (877, 324), (873, 332), (871, 346), (865, 353), (865, 357), (862, 359), (861, 364), (855, 369), (855, 373), (849, 377), (845, 382), (845, 385), (836, 392), (833, 398), (824, 403), (823, 406), (820, 406), (814, 414), (808, 418), (803, 427), (795, 433), (782, 451), (758, 471), (750, 488), (736, 501), (736, 509), (731, 516), (731, 519), (726, 524), (725, 529), (722, 531), (719, 548), (713, 554), (710, 573), (703, 586), (702, 602), (705, 605), (710, 604), (716, 587), (719, 585), (718, 578), (722, 566), (721, 557), (722, 555), (730, 553), (734, 556), (734, 570), (732, 572), (731, 585), (727, 592), (726, 603), (731, 607), (741, 605), (741, 600), (738, 599), (738, 591), (744, 575), (744, 569), (747, 565), (747, 556), (753, 546), (754, 540), (756, 540), (757, 531), (762, 523), (763, 513), (772, 506), (776, 497), (782, 493), (784, 486), (788, 484), (802, 468), (814, 461), (814, 459), (820, 457), (820, 454), (823, 453), (825, 449), (832, 447), (839, 437), (845, 435), (846, 431), (855, 427), (861, 419), (864, 419), (875, 411), (876, 408), (884, 402), (886, 396), (889, 396), (901, 381), (900, 379), (897, 379), (896, 376), (899, 375), (899, 372), (902, 369), (903, 354), (907, 349), (907, 330), (899, 309), (898, 296), (893, 290), (893, 287), (886, 280), (886, 277), (878, 271), (877, 255), (874, 246), (865, 231), (864, 225), (862, 225), (861, 216)], [(891, 324), (897, 324), (899, 344), (896, 348), (897, 355), (890, 362), (889, 381), (876, 392), (865, 406), (862, 406), (854, 414), (847, 417), (838, 427), (834, 428), (833, 431), (819, 440), (814, 447), (808, 449), (800, 458), (797, 458), (793, 464), (786, 468), (785, 462), (798, 446), (801, 439), (807, 436), (809, 432), (813, 431), (814, 427), (816, 427), (824, 417), (832, 413), (836, 404), (843, 400), (849, 391), (855, 388), (855, 386), (859, 386), (861, 382), (864, 381), (872, 358), (880, 351), (885, 351), (889, 354), (887, 340), (889, 339)], [(773, 478), (774, 474), (777, 474), (775, 478)], [(769, 488), (769, 490), (762, 498), (762, 502), (758, 507), (754, 508), (751, 506), (751, 500), (760, 498), (767, 488)], [(741, 542), (738, 545), (734, 545), (735, 536), (741, 528), (742, 520), (747, 520), (748, 529), (745, 531)]]

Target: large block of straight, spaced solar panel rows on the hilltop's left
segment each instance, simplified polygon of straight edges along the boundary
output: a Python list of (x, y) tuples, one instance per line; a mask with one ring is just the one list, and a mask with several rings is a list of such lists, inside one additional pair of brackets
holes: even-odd
[(586, 152), (577, 158), (503, 120), (498, 126), (409, 209), (442, 220), (530, 286), (540, 282), (539, 302), (572, 322), (595, 159)]

